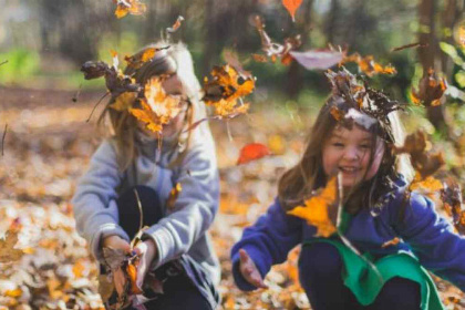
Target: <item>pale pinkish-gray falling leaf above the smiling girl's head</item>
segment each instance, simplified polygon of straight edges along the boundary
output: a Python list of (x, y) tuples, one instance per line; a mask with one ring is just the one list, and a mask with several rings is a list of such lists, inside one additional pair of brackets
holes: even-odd
[(331, 50), (290, 51), (289, 54), (308, 70), (326, 70), (341, 62), (344, 54)]

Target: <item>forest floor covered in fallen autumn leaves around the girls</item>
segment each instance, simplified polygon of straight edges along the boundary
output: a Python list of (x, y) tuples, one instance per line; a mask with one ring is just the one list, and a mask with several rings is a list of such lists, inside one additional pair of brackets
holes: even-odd
[[(95, 264), (75, 231), (70, 205), (102, 138), (95, 120), (103, 104), (86, 122), (102, 93), (82, 93), (76, 102), (74, 95), (0, 89), (0, 133), (8, 124), (0, 151), (0, 236), (16, 229), (17, 247), (25, 252), (18, 261), (0, 264), (0, 310), (102, 309)], [(299, 158), (306, 122), (299, 113), (252, 107), (228, 125), (210, 123), (221, 178), (220, 211), (210, 232), (221, 262), (224, 309), (310, 309), (298, 285), (298, 248), (268, 275), (268, 290), (251, 293), (235, 288), (229, 261), (244, 227), (272, 202), (277, 177)], [(239, 149), (251, 142), (268, 145), (275, 155), (237, 166)], [(465, 309), (458, 289), (435, 280), (447, 309)]]

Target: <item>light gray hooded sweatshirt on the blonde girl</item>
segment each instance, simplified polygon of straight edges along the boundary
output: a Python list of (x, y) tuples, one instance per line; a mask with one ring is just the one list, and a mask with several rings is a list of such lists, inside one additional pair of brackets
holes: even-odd
[(219, 264), (207, 232), (218, 209), (219, 178), (215, 145), (207, 128), (206, 125), (193, 131), (186, 156), (175, 167), (168, 164), (183, 147), (177, 145), (177, 138), (164, 140), (159, 149), (157, 140), (140, 134), (136, 141), (140, 155), (123, 173), (116, 162), (115, 141), (110, 138), (100, 145), (72, 199), (78, 231), (87, 240), (97, 260), (102, 259), (102, 238), (117, 235), (130, 241), (118, 226), (115, 200), (122, 193), (132, 186), (145, 185), (166, 202), (170, 189), (180, 183), (183, 189), (174, 207), (164, 206), (165, 217), (144, 232), (157, 246), (158, 256), (152, 268), (188, 254), (215, 285), (219, 283)]

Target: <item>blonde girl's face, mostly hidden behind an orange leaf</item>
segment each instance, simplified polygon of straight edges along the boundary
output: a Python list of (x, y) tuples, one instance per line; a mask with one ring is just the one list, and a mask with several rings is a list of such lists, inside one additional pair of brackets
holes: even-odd
[[(166, 92), (166, 94), (169, 95), (185, 95), (184, 89), (183, 89), (183, 84), (179, 81), (179, 79), (177, 78), (176, 74), (169, 76), (168, 79), (164, 80), (162, 83), (162, 86), (164, 89), (164, 91)], [(184, 103), (187, 104), (187, 103)], [(170, 122), (166, 125), (163, 125), (163, 136), (165, 137), (169, 137), (174, 134), (176, 134), (177, 132), (179, 132), (179, 130), (183, 127), (184, 125), (184, 117), (186, 115), (186, 106), (183, 106), (179, 114), (177, 114), (173, 120), (170, 120)], [(153, 138), (156, 138), (157, 135), (156, 133), (153, 133), (151, 131), (148, 131), (145, 126), (145, 124), (143, 122), (137, 122), (137, 126), (140, 127), (140, 130), (142, 130), (147, 136), (151, 136)]]

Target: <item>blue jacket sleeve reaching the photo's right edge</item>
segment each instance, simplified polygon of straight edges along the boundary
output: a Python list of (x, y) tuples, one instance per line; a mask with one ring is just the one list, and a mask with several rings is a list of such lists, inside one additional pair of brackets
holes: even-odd
[(465, 238), (435, 211), (432, 200), (412, 193), (397, 230), (422, 266), (465, 291)]

